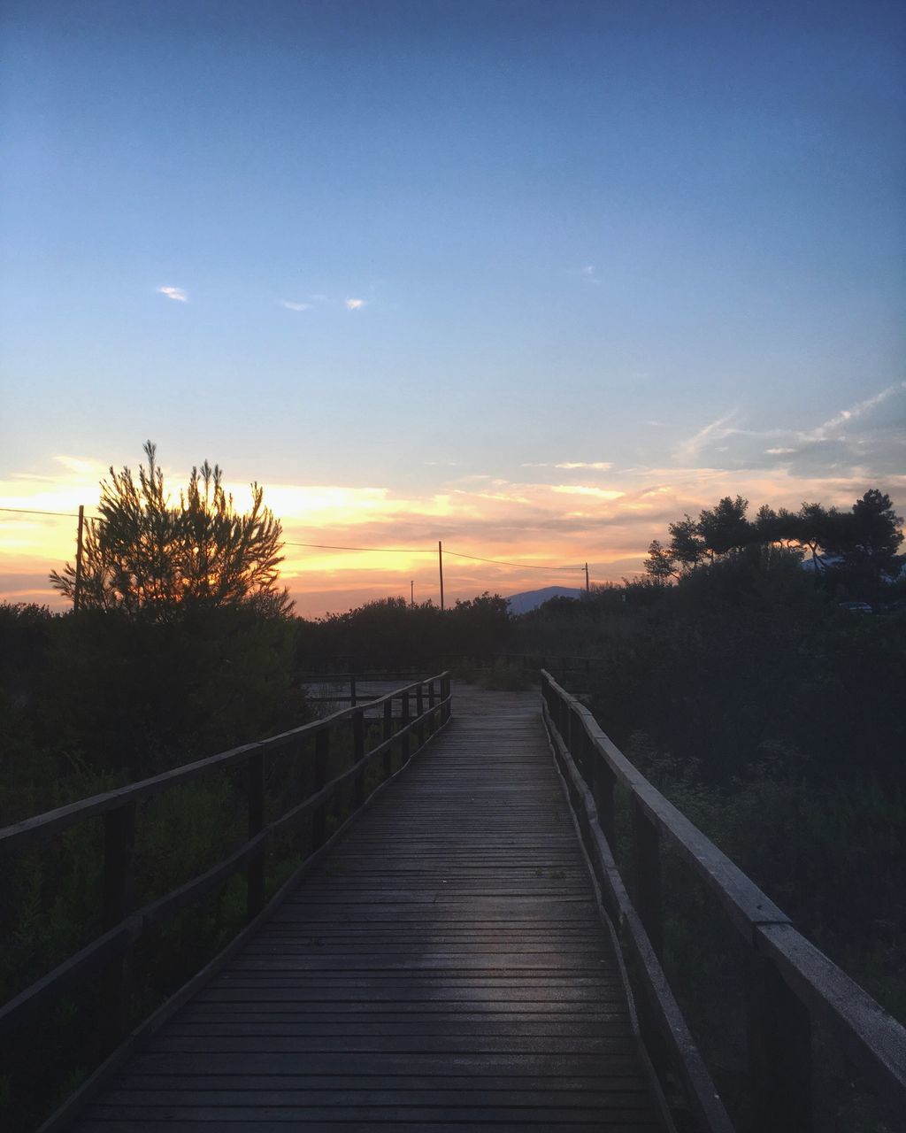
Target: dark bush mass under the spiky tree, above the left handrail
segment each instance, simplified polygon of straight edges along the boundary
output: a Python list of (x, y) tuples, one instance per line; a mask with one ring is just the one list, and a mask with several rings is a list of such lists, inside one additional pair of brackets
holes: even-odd
[(70, 781), (143, 778), (309, 715), (293, 620), (248, 604), (172, 622), (0, 605), (0, 824), (59, 806)]

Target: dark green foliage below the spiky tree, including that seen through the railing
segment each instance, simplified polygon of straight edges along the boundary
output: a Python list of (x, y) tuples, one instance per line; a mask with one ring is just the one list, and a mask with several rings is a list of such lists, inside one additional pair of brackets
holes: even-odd
[[(0, 604), (0, 826), (305, 723), (293, 650), (292, 620), (254, 602), (191, 605), (173, 620)], [(140, 804), (134, 906), (234, 849), (246, 825), (243, 783), (242, 772), (205, 777)], [(8, 863), (0, 999), (99, 935), (101, 860), (93, 820)], [(240, 878), (143, 943), (136, 1019), (241, 927), (243, 905)], [(109, 1053), (97, 1038), (96, 993), (86, 979), (72, 1003), (26, 1023), (15, 1048), (0, 1051), (10, 1075), (0, 1083), (1, 1126), (37, 1127), (67, 1092), (54, 1094), (53, 1083), (74, 1087)]]

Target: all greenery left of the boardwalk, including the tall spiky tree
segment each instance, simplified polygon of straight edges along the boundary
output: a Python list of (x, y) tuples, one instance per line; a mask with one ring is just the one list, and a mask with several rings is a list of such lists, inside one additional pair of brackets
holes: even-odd
[[(251, 510), (240, 514), (221, 470), (205, 462), (172, 503), (151, 442), (145, 452), (137, 478), (111, 469), (102, 484), (80, 571), (51, 576), (78, 608), (0, 606), (0, 825), (309, 714), (293, 672), (291, 603), (277, 585), (281, 527), (262, 489), (253, 485)], [(203, 780), (140, 806), (137, 905), (236, 847), (246, 825), (242, 782), (241, 774)], [(277, 789), (268, 783), (268, 795)], [(87, 821), (6, 864), (0, 999), (99, 935), (101, 860), (100, 824)], [(243, 905), (240, 878), (143, 943), (136, 1010), (151, 1011), (229, 939)], [(53, 1090), (61, 1100), (106, 1053), (95, 1000), (96, 981), (84, 981), (51, 1025), (27, 1024), (0, 1053), (11, 1075), (0, 1076), (3, 1127), (35, 1127)]]

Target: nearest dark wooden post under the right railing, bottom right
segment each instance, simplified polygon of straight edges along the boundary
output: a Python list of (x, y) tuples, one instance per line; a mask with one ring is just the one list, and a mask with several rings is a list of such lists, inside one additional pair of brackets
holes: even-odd
[(811, 1133), (812, 1026), (776, 964), (746, 943), (749, 1070), (758, 1133)]

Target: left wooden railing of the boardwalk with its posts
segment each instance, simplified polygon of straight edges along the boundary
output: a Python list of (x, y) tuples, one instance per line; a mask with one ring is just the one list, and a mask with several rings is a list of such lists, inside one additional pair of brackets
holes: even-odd
[[(399, 714), (394, 713), (394, 705), (399, 705)], [(11, 1033), (26, 1016), (55, 1003), (74, 981), (100, 970), (100, 1017), (106, 1032), (106, 1046), (114, 1045), (123, 1037), (128, 1024), (127, 957), (151, 928), (197, 903), (242, 870), (246, 872), (247, 920), (255, 920), (265, 906), (265, 853), (268, 844), (310, 816), (311, 850), (317, 851), (326, 841), (328, 806), (337, 792), (351, 787), (351, 810), (354, 812), (365, 802), (367, 768), (381, 759), (383, 775), (390, 777), (394, 749), (405, 764), (410, 757), (411, 740), (421, 747), (447, 723), (450, 716), (450, 674), (441, 673), (395, 689), (367, 705), (343, 708), (271, 739), (222, 751), (0, 830), (0, 854), (8, 859), (10, 853), (59, 837), (89, 818), (100, 816), (103, 819), (101, 935), (0, 1008), (0, 1036)], [(381, 742), (367, 749), (369, 723), (381, 725)], [(351, 744), (352, 766), (327, 782), (331, 736), (337, 729), (348, 733), (344, 741)], [(291, 758), (290, 749), (304, 741), (314, 741), (314, 790), (273, 821), (265, 821), (266, 761), (277, 753)], [(242, 845), (206, 872), (144, 908), (130, 911), (128, 894), (138, 803), (200, 776), (239, 767), (246, 768), (243, 790), (248, 815), (247, 837)]]

